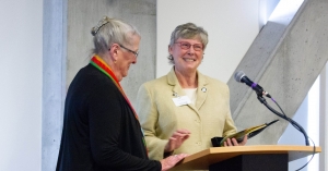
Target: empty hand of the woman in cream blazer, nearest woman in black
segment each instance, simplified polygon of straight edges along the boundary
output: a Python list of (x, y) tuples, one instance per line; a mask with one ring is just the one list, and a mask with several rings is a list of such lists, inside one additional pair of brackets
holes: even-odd
[(171, 152), (181, 146), (181, 144), (189, 137), (190, 132), (188, 130), (177, 130), (175, 131), (172, 136), (169, 137), (165, 148), (164, 152)]

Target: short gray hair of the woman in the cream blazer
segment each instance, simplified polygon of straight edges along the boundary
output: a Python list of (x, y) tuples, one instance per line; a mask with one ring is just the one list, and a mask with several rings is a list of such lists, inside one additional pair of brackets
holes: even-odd
[[(204, 30), (202, 27), (197, 26), (194, 23), (186, 23), (186, 24), (178, 25), (171, 34), (169, 46), (173, 46), (178, 38), (186, 38), (186, 39), (199, 38), (203, 46), (203, 50), (207, 48), (207, 45), (209, 42), (208, 32)], [(172, 56), (168, 56), (167, 59), (169, 63), (174, 64), (174, 60)]]

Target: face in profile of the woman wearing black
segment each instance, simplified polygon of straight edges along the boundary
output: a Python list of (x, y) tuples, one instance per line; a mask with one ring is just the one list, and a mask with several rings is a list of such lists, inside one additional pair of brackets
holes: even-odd
[[(131, 37), (131, 46), (122, 45), (125, 48), (130, 49), (131, 51), (137, 52), (139, 49), (140, 37), (134, 35)], [(121, 81), (122, 77), (128, 75), (131, 63), (137, 63), (137, 57), (133, 52), (125, 49), (124, 47), (118, 46), (118, 58), (115, 63), (115, 74), (118, 81)]]

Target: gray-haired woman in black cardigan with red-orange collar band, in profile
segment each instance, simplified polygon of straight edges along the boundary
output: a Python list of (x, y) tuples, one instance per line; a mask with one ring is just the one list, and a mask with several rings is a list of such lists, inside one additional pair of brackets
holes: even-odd
[(138, 115), (119, 84), (137, 63), (140, 34), (106, 16), (92, 35), (94, 56), (67, 93), (56, 170), (168, 170), (187, 155), (149, 160)]

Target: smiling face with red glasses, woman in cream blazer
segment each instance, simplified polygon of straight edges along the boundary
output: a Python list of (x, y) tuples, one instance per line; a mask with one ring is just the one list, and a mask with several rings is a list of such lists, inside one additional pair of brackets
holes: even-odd
[(176, 72), (195, 73), (203, 58), (203, 45), (198, 38), (178, 38), (168, 47), (168, 52), (173, 57)]

